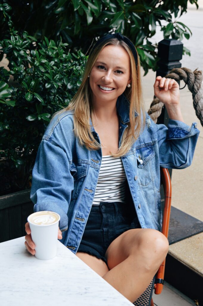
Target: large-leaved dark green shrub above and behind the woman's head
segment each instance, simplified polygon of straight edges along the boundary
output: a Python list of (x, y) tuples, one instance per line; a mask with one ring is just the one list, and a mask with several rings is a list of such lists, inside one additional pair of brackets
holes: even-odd
[[(148, 69), (157, 69), (156, 44), (150, 42), (157, 29), (163, 31), (164, 38), (189, 39), (192, 33), (178, 21), (179, 16), (187, 12), (189, 2), (198, 8), (198, 0), (3, 1), (12, 6), (10, 14), (20, 32), (26, 30), (40, 41), (46, 36), (56, 42), (61, 36), (71, 52), (82, 50), (86, 54), (95, 36), (109, 31), (126, 35), (137, 47), (145, 74)], [(1, 28), (0, 37), (7, 27)], [(187, 48), (183, 52), (189, 54)]]

